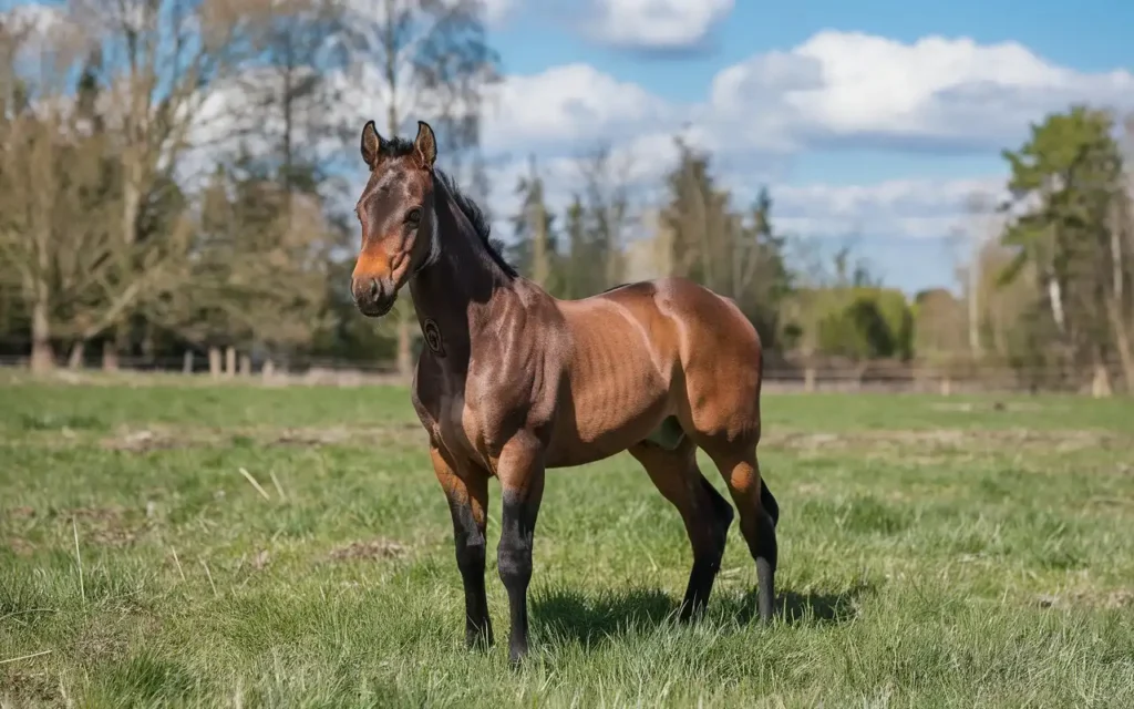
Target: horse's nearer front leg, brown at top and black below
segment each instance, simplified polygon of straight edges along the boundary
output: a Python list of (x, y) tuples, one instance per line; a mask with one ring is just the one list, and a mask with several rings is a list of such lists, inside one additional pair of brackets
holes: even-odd
[(497, 563), (508, 591), (508, 659), (514, 664), (527, 655), (527, 584), (532, 580), (535, 518), (543, 498), (543, 466), (542, 445), (523, 433), (503, 447), (497, 465), (502, 495)]

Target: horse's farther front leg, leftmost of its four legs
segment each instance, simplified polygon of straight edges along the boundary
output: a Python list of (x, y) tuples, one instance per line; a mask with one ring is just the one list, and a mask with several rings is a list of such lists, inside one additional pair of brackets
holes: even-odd
[(458, 471), (437, 446), (430, 449), (433, 471), (449, 500), (457, 568), (465, 585), (465, 642), (469, 648), (492, 644), (492, 619), (484, 596), (484, 527), (489, 507), (489, 476), (485, 471)]

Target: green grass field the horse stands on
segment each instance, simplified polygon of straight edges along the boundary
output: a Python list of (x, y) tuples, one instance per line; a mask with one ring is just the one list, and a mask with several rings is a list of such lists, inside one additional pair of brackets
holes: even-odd
[(467, 651), (406, 390), (0, 399), (3, 707), (1134, 706), (1128, 399), (767, 396), (767, 627), (736, 525), (683, 627), (684, 530), (633, 458), (555, 471), (518, 670), (498, 488), (497, 645)]

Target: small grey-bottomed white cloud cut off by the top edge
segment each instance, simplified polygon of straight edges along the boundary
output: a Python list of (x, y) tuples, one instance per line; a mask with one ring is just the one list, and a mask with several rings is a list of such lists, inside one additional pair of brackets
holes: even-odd
[(586, 32), (616, 47), (675, 50), (702, 43), (734, 0), (594, 0)]

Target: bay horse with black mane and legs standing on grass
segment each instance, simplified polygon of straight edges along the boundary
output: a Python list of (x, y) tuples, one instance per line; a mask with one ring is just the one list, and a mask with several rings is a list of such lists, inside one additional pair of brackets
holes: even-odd
[(628, 450), (680, 513), (693, 569), (679, 618), (699, 615), (720, 568), (733, 508), (697, 469), (720, 470), (755, 559), (760, 619), (773, 607), (779, 507), (760, 476), (760, 337), (730, 299), (682, 278), (558, 299), (489, 240), (483, 213), (439, 169), (437, 140), (382, 138), (367, 121), (370, 178), (356, 212), (350, 278), (358, 311), (381, 318), (408, 284), (425, 347), (414, 410), (452, 517), (469, 647), (492, 644), (484, 593), (489, 478), (500, 481), (500, 580), (509, 660), (528, 650), (527, 586), (544, 472)]

